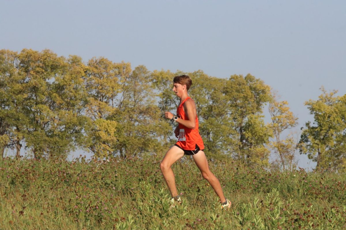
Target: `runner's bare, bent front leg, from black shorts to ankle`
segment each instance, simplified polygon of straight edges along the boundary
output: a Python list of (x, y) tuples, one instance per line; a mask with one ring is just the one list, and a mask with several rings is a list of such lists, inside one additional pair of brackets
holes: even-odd
[(175, 177), (171, 168), (172, 164), (184, 156), (184, 151), (176, 146), (172, 146), (160, 163), (160, 168), (167, 183), (172, 197), (176, 197), (178, 192), (175, 186)]

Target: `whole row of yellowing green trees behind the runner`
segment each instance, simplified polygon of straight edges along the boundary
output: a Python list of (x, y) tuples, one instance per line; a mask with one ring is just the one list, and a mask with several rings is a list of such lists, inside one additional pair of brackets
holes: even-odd
[[(176, 124), (164, 118), (179, 104), (174, 76), (192, 79), (199, 131), (209, 158), (293, 169), (298, 152), (317, 168), (346, 166), (346, 95), (323, 88), (306, 102), (315, 122), (297, 140), (284, 135), (298, 118), (286, 101), (251, 74), (216, 78), (195, 72), (149, 71), (145, 66), (79, 56), (59, 57), (51, 50), (0, 50), (0, 153), (25, 148), (35, 158), (66, 158), (77, 148), (97, 158), (163, 154), (175, 141)], [(271, 122), (265, 124), (264, 109)], [(22, 146), (24, 145), (24, 147)]]

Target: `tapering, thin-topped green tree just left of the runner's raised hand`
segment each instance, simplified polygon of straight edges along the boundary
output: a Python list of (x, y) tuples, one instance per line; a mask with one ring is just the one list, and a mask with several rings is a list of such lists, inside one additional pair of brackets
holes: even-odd
[(122, 157), (163, 151), (167, 120), (157, 106), (153, 75), (145, 66), (122, 78), (122, 93), (112, 119), (117, 121), (118, 143), (114, 154)]

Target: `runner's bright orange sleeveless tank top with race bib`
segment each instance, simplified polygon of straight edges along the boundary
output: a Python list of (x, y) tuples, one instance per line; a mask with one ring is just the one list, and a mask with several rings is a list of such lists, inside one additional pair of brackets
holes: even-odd
[[(183, 120), (189, 120), (187, 114), (185, 114), (184, 111), (184, 103), (186, 100), (191, 99), (190, 97), (187, 97), (184, 101), (181, 102), (181, 104), (176, 109), (177, 117), (183, 119)], [(192, 100), (192, 99), (191, 99)], [(178, 142), (176, 142), (177, 145), (179, 145), (182, 149), (185, 150), (195, 150), (196, 144), (198, 147), (203, 150), (204, 144), (203, 140), (198, 132), (198, 117), (196, 114), (196, 127), (195, 129), (189, 129), (182, 124), (179, 124), (179, 139)]]

